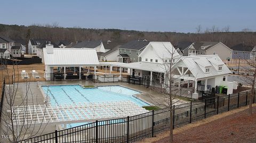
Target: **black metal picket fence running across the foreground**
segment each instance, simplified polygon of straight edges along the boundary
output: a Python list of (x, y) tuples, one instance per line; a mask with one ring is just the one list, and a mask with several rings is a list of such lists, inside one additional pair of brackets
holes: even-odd
[[(249, 92), (214, 97), (120, 119), (95, 121), (19, 142), (135, 142), (249, 104)], [(255, 95), (253, 95), (255, 103)]]

